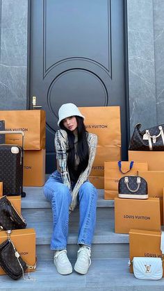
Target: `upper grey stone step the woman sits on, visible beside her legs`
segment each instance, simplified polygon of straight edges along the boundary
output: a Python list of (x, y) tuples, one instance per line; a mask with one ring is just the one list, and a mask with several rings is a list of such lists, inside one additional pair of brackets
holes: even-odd
[[(43, 194), (42, 187), (24, 187), (26, 197), (22, 198), (22, 208), (51, 208), (49, 203)], [(113, 200), (104, 200), (104, 190), (98, 190), (97, 207), (114, 207)]]

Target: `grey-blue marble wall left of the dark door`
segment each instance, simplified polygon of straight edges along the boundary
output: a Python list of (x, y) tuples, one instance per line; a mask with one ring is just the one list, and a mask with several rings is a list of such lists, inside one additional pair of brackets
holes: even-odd
[(0, 109), (26, 109), (28, 0), (0, 7)]

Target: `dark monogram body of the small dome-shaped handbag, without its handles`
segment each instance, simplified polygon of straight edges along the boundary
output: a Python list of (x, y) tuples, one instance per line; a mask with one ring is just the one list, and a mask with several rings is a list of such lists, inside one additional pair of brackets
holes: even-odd
[[(128, 176), (129, 178), (129, 188), (131, 190), (136, 190), (138, 187), (137, 183), (137, 176)], [(126, 186), (126, 183), (124, 183), (124, 177), (120, 178), (120, 181), (118, 183), (118, 192), (120, 194), (136, 194), (137, 195), (146, 195), (147, 194), (147, 181), (145, 181), (144, 178), (140, 177), (141, 183), (140, 188), (137, 192), (133, 193), (129, 191), (129, 189)]]

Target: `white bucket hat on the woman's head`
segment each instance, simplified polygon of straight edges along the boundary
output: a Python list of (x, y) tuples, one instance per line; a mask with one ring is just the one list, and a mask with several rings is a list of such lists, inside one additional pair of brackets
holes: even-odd
[(69, 116), (80, 116), (85, 119), (74, 103), (66, 103), (63, 104), (58, 110), (58, 126), (63, 119)]

